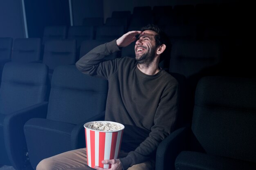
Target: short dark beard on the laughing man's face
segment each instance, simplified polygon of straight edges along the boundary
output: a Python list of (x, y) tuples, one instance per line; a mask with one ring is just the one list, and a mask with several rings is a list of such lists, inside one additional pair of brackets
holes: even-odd
[[(146, 50), (148, 49), (144, 46), (141, 46), (141, 47), (145, 48)], [(153, 48), (149, 49), (149, 51), (147, 51), (147, 52), (145, 52), (144, 54), (141, 54), (141, 55), (136, 53), (135, 54), (136, 55), (136, 57), (135, 57), (136, 61), (139, 64), (142, 64), (142, 65), (145, 65), (145, 67), (148, 67), (149, 65), (152, 64), (152, 62), (155, 59), (155, 50), (156, 49), (157, 49), (156, 47), (153, 47)]]

